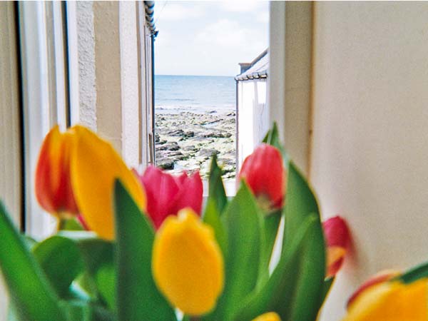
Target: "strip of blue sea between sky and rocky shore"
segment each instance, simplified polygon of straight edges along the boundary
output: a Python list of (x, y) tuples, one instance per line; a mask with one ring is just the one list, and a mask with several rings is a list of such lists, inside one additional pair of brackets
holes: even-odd
[(229, 76), (155, 76), (156, 113), (235, 110), (235, 79)]

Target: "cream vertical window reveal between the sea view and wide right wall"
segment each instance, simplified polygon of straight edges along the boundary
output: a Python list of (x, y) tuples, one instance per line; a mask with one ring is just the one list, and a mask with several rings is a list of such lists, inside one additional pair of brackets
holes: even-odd
[[(269, 113), (293, 161), (308, 173), (312, 76), (312, 2), (270, 3)], [(270, 125), (271, 126), (271, 125)]]

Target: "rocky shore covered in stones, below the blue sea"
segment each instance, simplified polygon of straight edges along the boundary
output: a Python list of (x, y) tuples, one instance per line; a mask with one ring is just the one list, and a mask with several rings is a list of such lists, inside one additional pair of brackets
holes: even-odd
[(200, 170), (208, 178), (217, 155), (223, 178), (235, 178), (235, 112), (156, 113), (156, 165), (170, 173)]

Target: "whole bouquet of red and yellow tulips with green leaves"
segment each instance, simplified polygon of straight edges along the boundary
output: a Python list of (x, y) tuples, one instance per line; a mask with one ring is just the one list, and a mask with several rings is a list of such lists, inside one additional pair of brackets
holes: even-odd
[[(87, 128), (53, 128), (35, 191), (57, 233), (21, 235), (0, 206), (9, 319), (316, 320), (345, 257), (345, 221), (321, 223), (275, 126), (245, 159), (233, 198), (221, 175), (214, 157), (203, 206), (198, 173), (140, 174)], [(427, 272), (377, 275), (345, 320), (427, 320)]]

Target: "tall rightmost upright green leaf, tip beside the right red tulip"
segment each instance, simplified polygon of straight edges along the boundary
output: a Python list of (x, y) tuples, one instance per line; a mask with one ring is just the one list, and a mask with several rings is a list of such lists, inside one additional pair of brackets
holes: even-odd
[(290, 302), (290, 318), (282, 317), (282, 320), (313, 321), (320, 309), (325, 278), (324, 234), (315, 195), (292, 162), (288, 170), (285, 203), (282, 251), (286, 250), (288, 240), (295, 237), (307, 217), (315, 213), (317, 220), (315, 227), (310, 230), (310, 238), (302, 248), (299, 270), (295, 271), (297, 288)]

